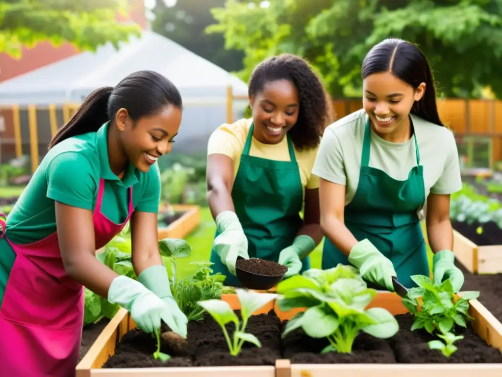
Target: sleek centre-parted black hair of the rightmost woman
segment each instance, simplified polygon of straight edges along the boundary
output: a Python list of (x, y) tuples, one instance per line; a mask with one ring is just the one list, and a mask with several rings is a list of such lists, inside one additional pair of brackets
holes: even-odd
[(420, 101), (415, 101), (410, 113), (438, 126), (439, 119), (434, 77), (427, 58), (413, 43), (389, 38), (373, 46), (362, 62), (362, 79), (370, 74), (392, 72), (415, 89), (425, 82), (425, 92)]

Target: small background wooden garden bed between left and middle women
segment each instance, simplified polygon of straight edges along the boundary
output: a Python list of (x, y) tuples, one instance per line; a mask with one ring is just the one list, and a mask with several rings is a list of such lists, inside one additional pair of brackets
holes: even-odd
[(167, 214), (166, 207), (159, 208), (159, 240), (164, 238), (185, 238), (200, 223), (199, 206), (173, 205), (175, 214)]

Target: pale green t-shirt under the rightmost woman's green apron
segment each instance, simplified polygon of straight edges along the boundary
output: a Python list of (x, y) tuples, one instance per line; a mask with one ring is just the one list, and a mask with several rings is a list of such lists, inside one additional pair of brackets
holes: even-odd
[[(414, 115), (411, 119), (420, 164), (424, 167), (425, 197), (429, 193), (453, 194), (459, 191), (462, 180), (452, 131)], [(352, 201), (357, 190), (367, 120), (368, 115), (361, 109), (329, 125), (312, 169), (312, 173), (320, 178), (345, 185), (345, 205)], [(394, 179), (405, 180), (416, 161), (413, 137), (404, 143), (392, 143), (371, 131), (370, 167), (384, 170)]]

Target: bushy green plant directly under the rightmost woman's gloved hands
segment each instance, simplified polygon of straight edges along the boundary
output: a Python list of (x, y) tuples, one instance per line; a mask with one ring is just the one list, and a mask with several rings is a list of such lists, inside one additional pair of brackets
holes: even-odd
[(403, 304), (415, 317), (412, 331), (425, 328), (431, 334), (436, 330), (447, 334), (455, 324), (467, 327), (466, 320), (473, 320), (468, 313), (469, 300), (477, 299), (479, 292), (464, 292), (454, 303), (453, 287), (449, 279), (441, 285), (435, 285), (424, 275), (413, 275), (411, 278), (418, 287), (408, 290)]

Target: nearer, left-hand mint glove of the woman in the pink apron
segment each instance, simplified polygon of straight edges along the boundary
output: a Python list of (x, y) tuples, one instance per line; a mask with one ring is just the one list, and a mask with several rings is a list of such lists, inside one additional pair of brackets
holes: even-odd
[[(171, 327), (171, 308), (141, 282), (128, 276), (117, 276), (108, 289), (108, 301), (128, 310), (138, 327), (146, 333), (160, 329), (161, 320)], [(176, 331), (176, 326), (173, 331)], [(183, 336), (183, 334), (180, 334)]]

